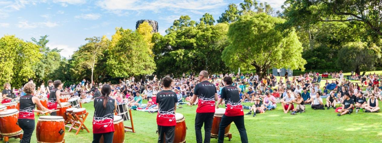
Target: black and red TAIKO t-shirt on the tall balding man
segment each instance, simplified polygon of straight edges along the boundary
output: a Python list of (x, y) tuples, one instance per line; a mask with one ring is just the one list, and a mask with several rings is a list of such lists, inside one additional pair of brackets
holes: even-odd
[(216, 87), (211, 82), (205, 80), (195, 85), (194, 94), (197, 95), (197, 113), (215, 112)]

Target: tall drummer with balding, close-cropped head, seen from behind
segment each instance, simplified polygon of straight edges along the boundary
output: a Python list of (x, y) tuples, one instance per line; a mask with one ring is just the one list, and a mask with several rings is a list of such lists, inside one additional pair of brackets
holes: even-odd
[(202, 143), (201, 128), (204, 124), (204, 143), (209, 143), (211, 139), (212, 121), (215, 114), (215, 101), (217, 101), (217, 91), (214, 84), (208, 81), (208, 72), (199, 73), (199, 83), (195, 85), (194, 95), (190, 100), (190, 105), (198, 99), (198, 106), (195, 116), (196, 142)]

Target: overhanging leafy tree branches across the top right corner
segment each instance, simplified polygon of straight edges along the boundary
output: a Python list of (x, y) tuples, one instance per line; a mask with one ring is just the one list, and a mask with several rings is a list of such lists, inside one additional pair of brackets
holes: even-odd
[(376, 35), (382, 35), (381, 0), (286, 0), (289, 26), (317, 22), (362, 23)]

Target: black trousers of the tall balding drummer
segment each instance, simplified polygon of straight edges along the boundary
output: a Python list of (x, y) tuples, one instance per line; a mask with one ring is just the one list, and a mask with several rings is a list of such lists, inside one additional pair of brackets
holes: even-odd
[(204, 143), (209, 143), (211, 140), (212, 121), (214, 121), (215, 113), (196, 113), (195, 116), (195, 134), (196, 142), (202, 143), (202, 126), (204, 124)]

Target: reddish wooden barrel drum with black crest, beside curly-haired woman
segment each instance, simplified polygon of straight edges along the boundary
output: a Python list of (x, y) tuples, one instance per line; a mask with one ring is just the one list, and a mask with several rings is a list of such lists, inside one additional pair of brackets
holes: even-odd
[[(63, 131), (62, 135), (60, 131)], [(65, 136), (64, 122), (38, 121), (36, 127), (37, 141), (44, 143), (61, 143)]]

